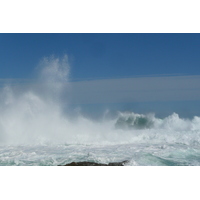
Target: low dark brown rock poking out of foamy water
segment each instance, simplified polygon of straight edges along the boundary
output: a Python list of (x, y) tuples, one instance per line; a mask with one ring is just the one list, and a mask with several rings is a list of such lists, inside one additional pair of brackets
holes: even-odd
[(71, 162), (66, 165), (59, 165), (59, 166), (124, 166), (128, 161), (122, 161), (122, 162), (113, 162), (108, 164), (103, 163), (95, 163), (95, 162)]

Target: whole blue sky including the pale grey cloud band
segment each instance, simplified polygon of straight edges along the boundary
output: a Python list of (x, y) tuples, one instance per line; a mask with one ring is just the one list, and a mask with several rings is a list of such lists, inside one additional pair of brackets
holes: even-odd
[(67, 54), (77, 105), (199, 115), (199, 52), (200, 34), (0, 34), (0, 79), (31, 79), (43, 57)]

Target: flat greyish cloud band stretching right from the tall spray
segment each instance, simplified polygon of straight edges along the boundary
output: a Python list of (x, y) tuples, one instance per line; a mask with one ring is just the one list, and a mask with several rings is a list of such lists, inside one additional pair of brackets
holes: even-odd
[(200, 100), (200, 76), (104, 79), (69, 84), (70, 102), (75, 104)]

